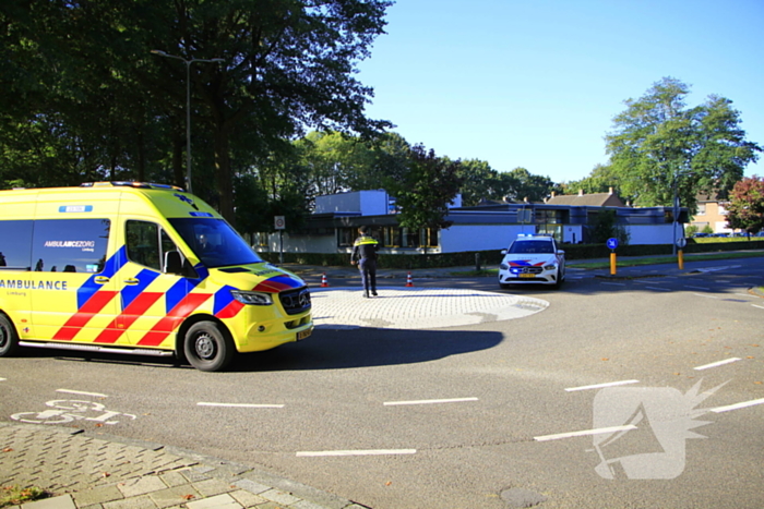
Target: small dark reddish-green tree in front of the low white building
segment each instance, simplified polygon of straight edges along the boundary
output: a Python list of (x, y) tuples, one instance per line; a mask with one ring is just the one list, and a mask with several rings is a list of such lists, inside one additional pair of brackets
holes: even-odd
[(411, 147), (406, 174), (389, 189), (401, 209), (398, 223), (411, 230), (447, 228), (444, 217), (462, 184), (458, 167), (458, 161), (440, 158), (434, 150)]

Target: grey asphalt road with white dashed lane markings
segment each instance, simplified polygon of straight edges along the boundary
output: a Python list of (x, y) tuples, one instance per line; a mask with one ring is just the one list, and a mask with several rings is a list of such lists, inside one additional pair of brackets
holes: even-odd
[(0, 419), (97, 401), (92, 421), (51, 425), (261, 466), (374, 509), (764, 507), (764, 299), (748, 291), (762, 258), (664, 272), (570, 270), (559, 291), (417, 281), (549, 306), (320, 328), (228, 373), (28, 352), (0, 360)]

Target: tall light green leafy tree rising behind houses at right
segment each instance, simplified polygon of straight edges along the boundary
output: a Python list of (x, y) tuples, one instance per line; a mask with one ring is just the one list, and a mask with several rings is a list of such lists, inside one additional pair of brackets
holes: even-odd
[(613, 119), (606, 136), (610, 167), (623, 197), (641, 206), (670, 206), (675, 190), (691, 213), (699, 192), (724, 196), (740, 180), (759, 145), (745, 140), (731, 101), (711, 96), (688, 108), (690, 87), (665, 77)]

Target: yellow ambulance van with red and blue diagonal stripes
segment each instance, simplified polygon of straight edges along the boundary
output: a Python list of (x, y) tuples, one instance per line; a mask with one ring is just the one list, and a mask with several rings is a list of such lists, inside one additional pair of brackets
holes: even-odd
[(305, 281), (179, 187), (0, 191), (0, 356), (176, 355), (212, 372), (312, 330)]

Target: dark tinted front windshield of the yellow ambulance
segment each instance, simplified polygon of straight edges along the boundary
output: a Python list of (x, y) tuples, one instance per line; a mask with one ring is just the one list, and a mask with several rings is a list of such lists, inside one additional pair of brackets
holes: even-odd
[(208, 268), (263, 262), (223, 219), (170, 218), (169, 221)]

